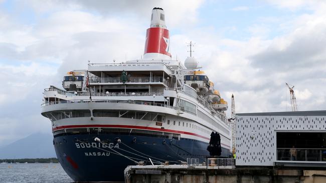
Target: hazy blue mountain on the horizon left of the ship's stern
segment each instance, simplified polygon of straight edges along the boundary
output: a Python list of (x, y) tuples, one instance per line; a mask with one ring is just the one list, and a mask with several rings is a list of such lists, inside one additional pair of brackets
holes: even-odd
[(52, 140), (51, 134), (31, 134), (0, 147), (0, 159), (56, 157)]

